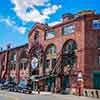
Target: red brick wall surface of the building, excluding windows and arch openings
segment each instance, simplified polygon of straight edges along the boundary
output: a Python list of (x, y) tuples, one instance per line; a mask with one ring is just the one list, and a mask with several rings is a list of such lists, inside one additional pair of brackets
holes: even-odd
[[(62, 51), (63, 46), (67, 41), (73, 40), (76, 42), (77, 50), (75, 53), (77, 56), (77, 64), (71, 71), (70, 87), (79, 88), (78, 84), (80, 83), (77, 82), (77, 75), (78, 72), (81, 72), (84, 80), (80, 85), (82, 89), (83, 87), (93, 88), (93, 72), (100, 72), (100, 65), (98, 64), (98, 39), (100, 39), (100, 29), (95, 30), (92, 27), (93, 20), (98, 19), (100, 20), (100, 15), (96, 15), (91, 11), (80, 12), (75, 18), (70, 18), (67, 16), (63, 19), (63, 22), (61, 24), (47, 28), (48, 31), (55, 30), (55, 37), (47, 40), (45, 39), (46, 26), (44, 24), (37, 23), (35, 27), (33, 27), (29, 32), (28, 45), (0, 53), (0, 69), (4, 67), (3, 70), (0, 71), (0, 76), (2, 76), (3, 72), (8, 69), (9, 60), (7, 60), (7, 52), (9, 53), (9, 57), (13, 52), (16, 52), (16, 70), (10, 71), (10, 75), (15, 76), (15, 79), (17, 81), (21, 78), (25, 79), (29, 77), (29, 72), (31, 72), (31, 58), (28, 57), (28, 59), (30, 59), (28, 60), (30, 63), (28, 63), (27, 68), (25, 70), (19, 71), (20, 55), (23, 50), (29, 51), (32, 48), (35, 32), (38, 31), (40, 33), (39, 43), (43, 46), (45, 57), (47, 47), (50, 44), (54, 44), (56, 46), (56, 54), (54, 55), (54, 58), (57, 58), (59, 56), (59, 52)], [(69, 24), (75, 25), (75, 31), (70, 34), (63, 35), (63, 26)], [(45, 75), (48, 71), (49, 68), (44, 68), (44, 62), (42, 62), (39, 65), (39, 75)], [(9, 71), (7, 71), (6, 73), (9, 74)], [(69, 74), (67, 67), (64, 67), (64, 74)], [(58, 82), (58, 85), (61, 84), (61, 81), (59, 81), (59, 79), (57, 80), (56, 81)]]

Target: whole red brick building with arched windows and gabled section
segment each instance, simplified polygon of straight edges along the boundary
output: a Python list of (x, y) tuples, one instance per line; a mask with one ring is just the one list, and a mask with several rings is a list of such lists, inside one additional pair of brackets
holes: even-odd
[[(100, 15), (95, 11), (64, 14), (54, 26), (37, 23), (28, 44), (0, 52), (0, 77), (17, 82), (42, 77), (44, 90), (100, 89)], [(44, 76), (53, 76), (51, 79)]]

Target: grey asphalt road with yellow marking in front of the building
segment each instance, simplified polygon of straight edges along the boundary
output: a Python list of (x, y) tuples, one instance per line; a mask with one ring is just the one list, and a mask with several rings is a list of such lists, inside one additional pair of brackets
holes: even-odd
[(56, 94), (29, 95), (29, 94), (0, 91), (0, 100), (100, 100), (100, 99), (79, 97), (72, 95), (56, 95)]

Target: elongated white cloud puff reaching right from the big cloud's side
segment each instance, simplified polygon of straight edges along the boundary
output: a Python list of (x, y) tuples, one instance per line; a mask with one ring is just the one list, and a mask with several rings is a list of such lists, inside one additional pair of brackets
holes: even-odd
[(59, 9), (59, 8), (61, 8), (61, 5), (53, 5), (53, 6), (51, 6), (51, 7), (48, 7), (48, 8), (45, 8), (44, 10), (43, 10), (43, 14), (44, 15), (50, 15), (50, 14), (54, 14), (54, 13), (56, 13), (56, 11)]

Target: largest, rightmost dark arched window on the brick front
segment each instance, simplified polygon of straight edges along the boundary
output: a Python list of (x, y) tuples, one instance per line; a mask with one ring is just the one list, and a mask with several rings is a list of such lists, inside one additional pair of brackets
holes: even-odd
[(67, 41), (63, 46), (63, 65), (76, 64), (76, 49), (77, 45), (74, 40)]

